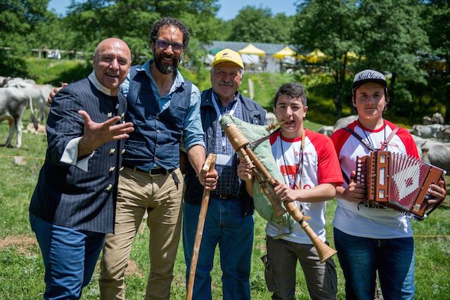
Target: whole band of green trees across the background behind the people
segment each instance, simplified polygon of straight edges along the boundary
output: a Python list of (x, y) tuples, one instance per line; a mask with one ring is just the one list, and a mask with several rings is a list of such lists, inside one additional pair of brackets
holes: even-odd
[[(204, 45), (213, 40), (293, 44), (300, 54), (320, 49), (324, 58), (300, 60), (297, 72), (319, 70), (333, 78), (323, 93), (333, 98), (338, 115), (348, 105), (353, 74), (371, 67), (388, 75), (393, 113), (411, 117), (420, 105), (444, 103), (449, 121), (448, 0), (302, 0), (296, 5), (293, 16), (245, 6), (232, 20), (221, 20), (218, 0), (71, 0), (66, 15), (49, 11), (49, 0), (0, 0), (0, 68), (18, 75), (25, 72), (21, 62), (32, 48), (92, 52), (105, 37), (127, 41), (134, 63), (141, 63), (151, 56), (151, 25), (172, 16), (190, 27), (185, 58), (200, 71)], [(411, 106), (413, 101), (420, 105)]]

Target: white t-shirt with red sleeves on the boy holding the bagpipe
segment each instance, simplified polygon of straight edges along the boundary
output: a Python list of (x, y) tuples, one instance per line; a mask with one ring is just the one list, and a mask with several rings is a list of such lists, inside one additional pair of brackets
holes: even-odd
[[(290, 139), (281, 136), (280, 131), (276, 131), (270, 138), (272, 155), (283, 174), (286, 185), (295, 190), (299, 188), (300, 184), (304, 189), (314, 188), (322, 183), (341, 185), (343, 183), (342, 173), (330, 138), (309, 129), (304, 130), (303, 153), (301, 136)], [(301, 170), (300, 166), (302, 166)], [(308, 221), (309, 225), (321, 240), (325, 241), (326, 202), (295, 201), (295, 204), (299, 208), (301, 205), (304, 216), (311, 216), (311, 220)], [(295, 223), (292, 232), (289, 233), (288, 228), (279, 228), (275, 223), (268, 222), (266, 233), (271, 237), (285, 234), (281, 237), (283, 240), (298, 244), (312, 244), (299, 223)]]

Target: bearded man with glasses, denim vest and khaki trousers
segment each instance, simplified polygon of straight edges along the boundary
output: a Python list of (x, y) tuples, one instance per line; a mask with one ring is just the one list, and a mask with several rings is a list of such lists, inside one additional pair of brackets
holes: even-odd
[(103, 248), (101, 299), (124, 299), (131, 244), (146, 212), (150, 228), (146, 299), (169, 299), (181, 231), (181, 141), (197, 181), (214, 188), (217, 172), (206, 180), (207, 174), (201, 171), (205, 143), (200, 91), (177, 70), (188, 41), (188, 27), (179, 20), (158, 20), (150, 30), (153, 60), (131, 67), (122, 84), (128, 100), (126, 119), (135, 124), (135, 131), (125, 141), (115, 233), (106, 236)]

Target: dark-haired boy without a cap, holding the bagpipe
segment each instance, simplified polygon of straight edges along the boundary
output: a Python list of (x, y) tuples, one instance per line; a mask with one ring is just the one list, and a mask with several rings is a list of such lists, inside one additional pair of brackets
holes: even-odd
[[(283, 183), (274, 190), (279, 200), (295, 202), (309, 224), (325, 242), (326, 200), (335, 196), (342, 184), (338, 157), (327, 136), (303, 126), (307, 115), (307, 97), (298, 83), (284, 84), (275, 96), (274, 113), (281, 124), (271, 134), (271, 151), (283, 174)], [(252, 175), (241, 161), (238, 176), (252, 192)], [(316, 248), (299, 223), (291, 228), (269, 221), (266, 226), (267, 255), (263, 257), (265, 276), (272, 299), (295, 299), (295, 268), (300, 261), (311, 299), (335, 299), (337, 277), (333, 259), (319, 261)]]

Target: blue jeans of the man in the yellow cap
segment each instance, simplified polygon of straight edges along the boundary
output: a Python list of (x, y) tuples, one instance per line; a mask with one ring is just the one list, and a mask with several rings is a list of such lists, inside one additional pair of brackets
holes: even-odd
[[(183, 205), (183, 248), (186, 282), (188, 282), (200, 204)], [(210, 271), (217, 244), (223, 273), (224, 299), (250, 299), (250, 261), (254, 223), (253, 216), (242, 216), (242, 204), (239, 200), (211, 197), (195, 270), (193, 299), (212, 299)]]

